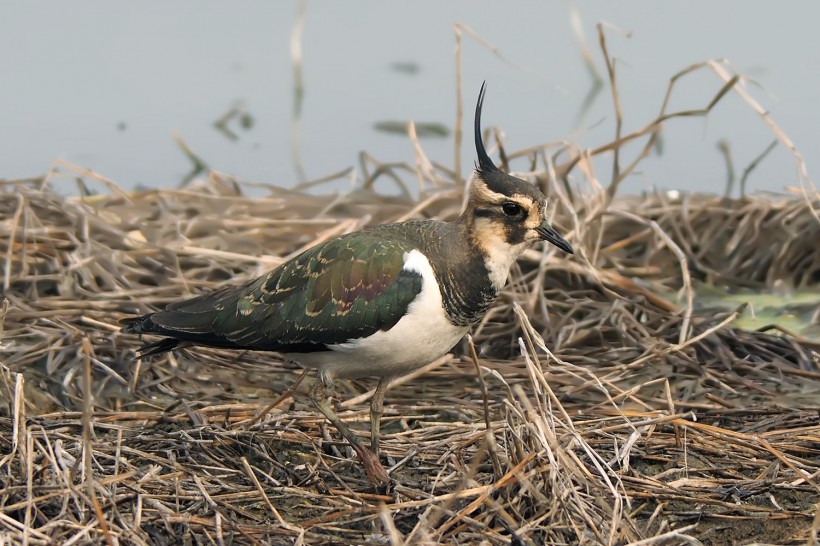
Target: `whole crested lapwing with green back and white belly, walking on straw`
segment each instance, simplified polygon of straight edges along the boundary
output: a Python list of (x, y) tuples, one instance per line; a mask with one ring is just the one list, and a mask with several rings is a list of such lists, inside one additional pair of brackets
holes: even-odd
[[(573, 253), (550, 224), (541, 190), (502, 171), (487, 154), (485, 92), (486, 82), (475, 109), (477, 161), (460, 216), (367, 227), (244, 284), (124, 318), (123, 333), (163, 336), (138, 356), (202, 345), (273, 351), (317, 370), (310, 401), (351, 445), (369, 481), (388, 484), (379, 437), (389, 383), (455, 347), (492, 306), (525, 249), (547, 241)], [(365, 377), (378, 378), (369, 449), (327, 402), (335, 379)]]

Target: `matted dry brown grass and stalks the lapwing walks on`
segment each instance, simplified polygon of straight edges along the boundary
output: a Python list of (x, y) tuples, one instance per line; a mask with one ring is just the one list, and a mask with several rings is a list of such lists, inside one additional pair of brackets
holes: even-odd
[[(713, 103), (741, 84), (722, 81)], [(365, 189), (344, 196), (267, 188), (251, 198), (217, 173), (125, 192), (67, 165), (3, 184), (0, 537), (816, 543), (820, 344), (739, 330), (737, 313), (694, 305), (703, 281), (816, 287), (816, 191), (805, 177), (792, 197), (616, 196), (664, 122), (707, 111), (661, 112), (598, 150), (501, 150), (505, 161), (529, 158), (518, 174), (552, 196), (580, 252), (528, 251), (456, 355), (391, 388), (389, 491), (374, 491), (335, 431), (289, 396), (299, 371), (276, 355), (197, 349), (135, 361), (139, 342), (117, 321), (364, 225), (453, 218), (458, 173), (414, 140), (414, 166), (370, 170), (363, 158)], [(644, 152), (623, 168), (616, 156), (610, 184), (599, 184), (591, 155), (641, 138)], [(403, 171), (418, 199), (370, 190)], [(65, 198), (53, 190), (60, 175), (110, 191)], [(337, 385), (340, 416), (360, 430), (370, 386)]]

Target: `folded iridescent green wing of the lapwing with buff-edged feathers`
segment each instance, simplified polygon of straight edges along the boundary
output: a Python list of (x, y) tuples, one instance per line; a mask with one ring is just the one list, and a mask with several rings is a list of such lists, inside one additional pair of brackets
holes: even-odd
[(224, 347), (320, 350), (388, 330), (422, 288), (407, 243), (355, 233), (318, 245), (269, 274), (175, 303), (157, 333)]

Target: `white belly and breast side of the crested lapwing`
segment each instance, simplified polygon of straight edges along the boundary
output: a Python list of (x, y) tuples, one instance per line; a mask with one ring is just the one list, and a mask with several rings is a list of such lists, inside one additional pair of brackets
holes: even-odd
[(334, 345), (330, 351), (290, 354), (288, 358), (334, 377), (390, 377), (429, 364), (452, 349), (469, 327), (455, 326), (444, 313), (433, 268), (418, 250), (405, 255), (404, 269), (422, 276), (421, 292), (390, 330)]

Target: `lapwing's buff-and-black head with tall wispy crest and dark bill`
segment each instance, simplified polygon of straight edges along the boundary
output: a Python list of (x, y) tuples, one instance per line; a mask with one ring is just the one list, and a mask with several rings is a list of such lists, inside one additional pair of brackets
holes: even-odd
[(475, 109), (475, 147), (478, 161), (470, 184), (465, 217), (472, 223), (473, 237), (492, 254), (518, 256), (536, 241), (549, 241), (572, 254), (572, 246), (555, 231), (547, 218), (547, 198), (532, 184), (511, 176), (493, 163), (481, 138), (481, 85)]

